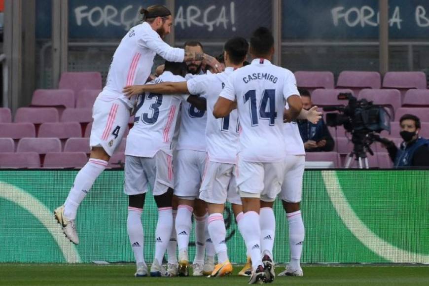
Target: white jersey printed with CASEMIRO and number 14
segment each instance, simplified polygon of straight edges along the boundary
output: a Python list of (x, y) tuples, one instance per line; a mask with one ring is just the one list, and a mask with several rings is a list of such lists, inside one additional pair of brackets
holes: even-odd
[(254, 59), (249, 66), (230, 75), (220, 96), (237, 101), (242, 128), (240, 159), (249, 162), (285, 159), (283, 112), (291, 95), (299, 95), (293, 73), (266, 59)]

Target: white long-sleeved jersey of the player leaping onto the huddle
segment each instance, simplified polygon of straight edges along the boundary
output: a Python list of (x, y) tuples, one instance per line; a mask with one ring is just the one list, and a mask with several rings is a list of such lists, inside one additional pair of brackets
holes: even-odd
[(106, 86), (98, 98), (127, 102), (122, 89), (127, 85), (146, 82), (156, 54), (170, 62), (183, 62), (184, 59), (184, 50), (168, 45), (148, 23), (143, 22), (131, 28), (116, 48)]

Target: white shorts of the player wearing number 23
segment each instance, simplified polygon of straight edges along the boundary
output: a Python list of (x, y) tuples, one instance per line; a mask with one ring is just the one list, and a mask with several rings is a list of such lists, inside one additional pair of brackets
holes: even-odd
[(172, 159), (163, 151), (152, 158), (125, 156), (125, 194), (144, 194), (150, 188), (154, 196), (159, 196), (173, 188)]

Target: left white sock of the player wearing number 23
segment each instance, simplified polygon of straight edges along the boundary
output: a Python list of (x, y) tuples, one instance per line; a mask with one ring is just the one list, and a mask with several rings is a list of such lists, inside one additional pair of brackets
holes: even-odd
[(143, 209), (128, 207), (127, 231), (130, 238), (131, 248), (136, 258), (136, 264), (144, 262), (143, 249), (143, 224), (142, 224)]

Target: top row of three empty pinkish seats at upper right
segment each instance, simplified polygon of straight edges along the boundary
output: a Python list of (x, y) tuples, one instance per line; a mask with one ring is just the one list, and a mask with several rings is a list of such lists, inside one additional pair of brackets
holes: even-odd
[(387, 72), (383, 77), (378, 72), (340, 72), (337, 84), (334, 84), (332, 72), (294, 72), (298, 87), (314, 90), (317, 88), (349, 88), (359, 91), (364, 88), (394, 88), (399, 90), (426, 89), (427, 79), (424, 72)]

